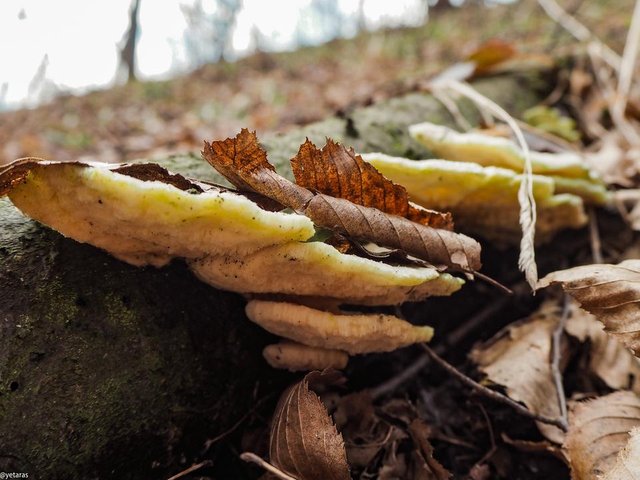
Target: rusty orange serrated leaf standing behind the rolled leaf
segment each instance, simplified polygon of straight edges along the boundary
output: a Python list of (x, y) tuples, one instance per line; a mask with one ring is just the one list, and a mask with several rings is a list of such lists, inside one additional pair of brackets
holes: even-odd
[(451, 214), (412, 204), (402, 185), (386, 178), (352, 148), (331, 139), (327, 139), (322, 150), (307, 139), (291, 159), (291, 168), (296, 183), (311, 191), (377, 208), (422, 225), (453, 230)]

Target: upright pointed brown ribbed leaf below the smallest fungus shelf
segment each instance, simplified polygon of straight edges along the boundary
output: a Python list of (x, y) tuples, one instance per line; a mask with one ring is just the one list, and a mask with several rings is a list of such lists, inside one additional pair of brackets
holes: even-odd
[(314, 373), (280, 397), (271, 426), (270, 460), (301, 480), (349, 480), (342, 435), (320, 398), (309, 390), (310, 375)]

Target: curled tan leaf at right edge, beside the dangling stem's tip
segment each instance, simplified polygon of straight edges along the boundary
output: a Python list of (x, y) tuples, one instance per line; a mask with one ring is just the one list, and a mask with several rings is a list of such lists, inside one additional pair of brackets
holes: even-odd
[(640, 356), (640, 260), (553, 272), (538, 288), (556, 283), (604, 323), (609, 335)]

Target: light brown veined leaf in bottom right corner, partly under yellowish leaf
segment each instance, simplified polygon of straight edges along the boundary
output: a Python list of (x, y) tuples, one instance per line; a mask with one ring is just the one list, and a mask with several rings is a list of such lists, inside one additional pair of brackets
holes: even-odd
[[(564, 443), (574, 480), (596, 480), (610, 475), (618, 452), (629, 443), (629, 432), (640, 427), (640, 398), (633, 392), (615, 392), (595, 400), (574, 403)], [(635, 448), (634, 444), (631, 448)], [(640, 472), (634, 472), (638, 478)], [(605, 477), (621, 480), (624, 477)]]

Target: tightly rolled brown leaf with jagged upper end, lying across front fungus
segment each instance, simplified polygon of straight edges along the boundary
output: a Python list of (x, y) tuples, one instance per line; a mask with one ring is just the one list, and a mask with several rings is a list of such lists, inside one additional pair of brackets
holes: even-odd
[[(431, 228), (349, 200), (313, 194), (274, 172), (254, 133), (243, 129), (234, 139), (205, 142), (203, 157), (238, 188), (256, 192), (303, 213), (314, 224), (356, 240), (398, 248), (434, 265), (480, 269), (480, 245), (448, 230)], [(239, 177), (239, 179), (238, 179)]]

